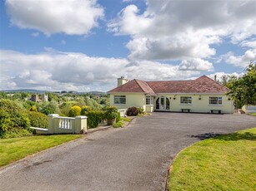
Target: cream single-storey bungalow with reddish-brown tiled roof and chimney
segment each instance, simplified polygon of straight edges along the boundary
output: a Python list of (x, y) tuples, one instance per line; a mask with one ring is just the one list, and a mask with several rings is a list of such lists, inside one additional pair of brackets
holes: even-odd
[(118, 78), (118, 87), (108, 91), (110, 105), (118, 109), (142, 107), (146, 112), (178, 111), (233, 113), (228, 88), (208, 78), (191, 81), (128, 81)]

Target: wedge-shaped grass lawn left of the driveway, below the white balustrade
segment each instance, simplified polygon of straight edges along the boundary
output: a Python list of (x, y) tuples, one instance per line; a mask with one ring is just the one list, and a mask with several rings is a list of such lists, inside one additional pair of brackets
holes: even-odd
[(82, 135), (36, 135), (0, 140), (0, 167)]

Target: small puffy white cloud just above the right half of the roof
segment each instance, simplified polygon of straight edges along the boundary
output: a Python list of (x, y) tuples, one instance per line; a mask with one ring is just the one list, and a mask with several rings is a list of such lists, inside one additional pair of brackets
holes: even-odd
[(213, 71), (213, 64), (209, 61), (203, 61), (200, 58), (193, 60), (183, 60), (179, 64), (179, 70), (181, 71)]

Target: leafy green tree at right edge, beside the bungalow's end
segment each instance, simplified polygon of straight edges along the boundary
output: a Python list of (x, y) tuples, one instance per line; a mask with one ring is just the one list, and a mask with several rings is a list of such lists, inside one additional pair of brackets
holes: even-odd
[(256, 105), (256, 62), (251, 61), (243, 77), (231, 77), (227, 85), (228, 95), (234, 100), (235, 105)]

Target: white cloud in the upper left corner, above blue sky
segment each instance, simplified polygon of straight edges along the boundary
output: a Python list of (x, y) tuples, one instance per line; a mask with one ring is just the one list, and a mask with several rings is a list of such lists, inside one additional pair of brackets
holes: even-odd
[(98, 26), (103, 7), (97, 0), (6, 0), (11, 22), (20, 28), (37, 29), (51, 35), (85, 35)]

